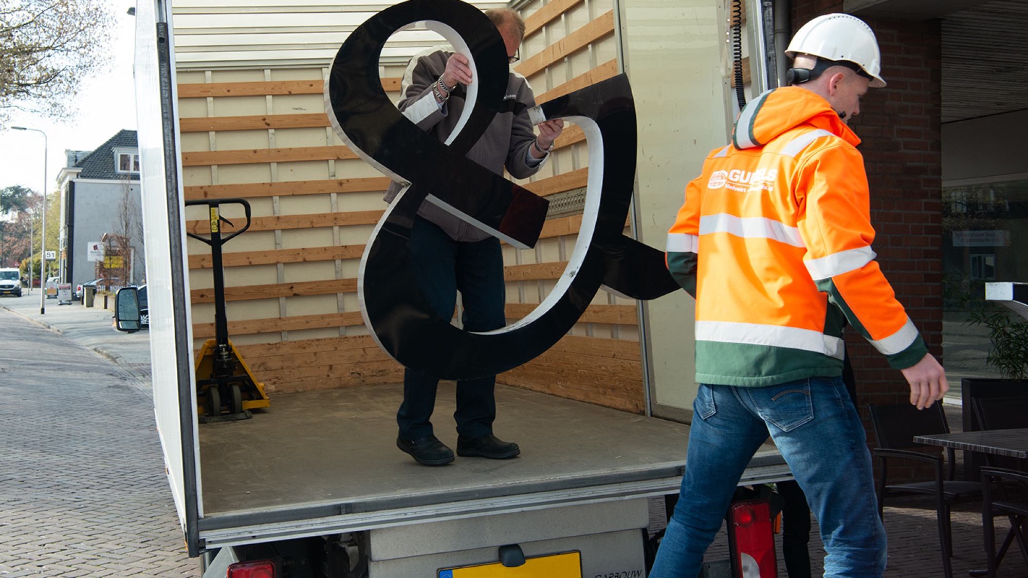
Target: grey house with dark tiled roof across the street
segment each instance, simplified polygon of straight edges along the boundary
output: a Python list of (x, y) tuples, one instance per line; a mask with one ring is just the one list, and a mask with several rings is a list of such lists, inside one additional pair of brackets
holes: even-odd
[[(93, 151), (66, 150), (61, 190), (59, 274), (76, 287), (98, 277), (143, 283), (143, 213), (136, 131), (120, 131)], [(96, 245), (111, 253), (98, 259)], [(114, 250), (119, 253), (115, 258)], [(104, 272), (102, 269), (107, 268)], [(102, 275), (106, 274), (106, 275)]]

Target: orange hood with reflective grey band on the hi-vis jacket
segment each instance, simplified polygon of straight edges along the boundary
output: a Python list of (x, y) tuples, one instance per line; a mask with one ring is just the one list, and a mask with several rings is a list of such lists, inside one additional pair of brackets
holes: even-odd
[(853, 146), (860, 144), (828, 101), (799, 86), (774, 88), (749, 101), (735, 120), (732, 144), (737, 149), (764, 146), (801, 124), (823, 129)]

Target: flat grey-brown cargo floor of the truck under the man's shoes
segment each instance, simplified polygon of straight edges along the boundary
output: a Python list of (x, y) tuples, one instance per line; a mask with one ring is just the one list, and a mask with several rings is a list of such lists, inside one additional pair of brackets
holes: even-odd
[[(252, 420), (199, 427), (205, 515), (375, 497), (477, 496), (497, 487), (602, 477), (654, 477), (685, 462), (688, 426), (497, 386), (498, 437), (512, 460), (461, 458), (416, 464), (396, 447), (402, 386), (362, 386), (276, 395)], [(436, 436), (456, 447), (454, 386), (439, 386)], [(570, 482), (568, 482), (570, 483)]]

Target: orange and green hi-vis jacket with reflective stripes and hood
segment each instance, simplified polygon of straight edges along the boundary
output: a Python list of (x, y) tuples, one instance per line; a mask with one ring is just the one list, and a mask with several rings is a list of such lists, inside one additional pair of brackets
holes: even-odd
[(875, 261), (860, 140), (796, 86), (747, 104), (686, 187), (667, 265), (696, 297), (696, 381), (842, 374), (848, 321), (904, 369), (928, 353)]

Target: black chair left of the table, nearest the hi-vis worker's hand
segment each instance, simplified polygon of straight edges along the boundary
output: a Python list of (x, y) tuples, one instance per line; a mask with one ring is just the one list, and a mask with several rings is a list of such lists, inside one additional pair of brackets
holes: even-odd
[[(940, 456), (912, 451), (913, 447), (927, 447), (916, 443), (915, 435), (949, 433), (946, 413), (943, 404), (935, 403), (931, 407), (918, 409), (909, 403), (895, 405), (869, 404), (871, 423), (874, 426), (878, 447), (872, 450), (872, 456), (878, 459), (878, 515), (883, 516), (885, 499), (898, 496), (933, 496), (935, 498), (935, 517), (939, 522), (939, 541), (943, 554), (943, 572), (946, 578), (952, 578), (953, 570), (950, 556), (953, 555), (952, 532), (950, 529), (950, 507), (953, 504), (978, 502), (982, 499), (982, 484), (977, 481), (963, 481), (953, 478), (955, 471), (955, 451), (947, 448), (946, 473), (943, 473), (944, 461)], [(912, 481), (888, 484), (888, 464), (890, 459), (915, 460), (934, 466), (934, 476), (930, 481)]]

